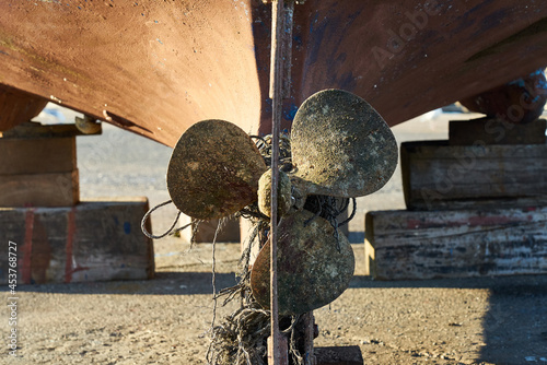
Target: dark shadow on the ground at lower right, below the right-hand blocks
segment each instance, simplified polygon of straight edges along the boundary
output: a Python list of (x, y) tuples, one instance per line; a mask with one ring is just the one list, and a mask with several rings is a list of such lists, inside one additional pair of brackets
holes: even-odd
[(374, 281), (356, 275), (354, 289), (447, 287), (488, 290), (478, 362), (497, 365), (547, 364), (547, 275)]

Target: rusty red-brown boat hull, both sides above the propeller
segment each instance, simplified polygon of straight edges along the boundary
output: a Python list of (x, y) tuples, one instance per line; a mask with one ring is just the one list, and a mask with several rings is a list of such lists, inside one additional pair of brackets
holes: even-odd
[[(0, 84), (172, 146), (209, 118), (268, 131), (270, 13), (255, 0), (2, 1)], [(327, 87), (395, 126), (547, 66), (547, 2), (307, 0), (292, 40), (286, 128)]]

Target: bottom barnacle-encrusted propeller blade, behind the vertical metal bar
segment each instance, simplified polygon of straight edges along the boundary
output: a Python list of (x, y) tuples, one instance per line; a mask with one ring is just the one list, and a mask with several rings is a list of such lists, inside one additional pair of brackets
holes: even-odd
[[(303, 210), (282, 219), (277, 244), (278, 305), (281, 315), (298, 315), (323, 307), (349, 286), (356, 266), (353, 250), (328, 221)], [(338, 251), (339, 245), (339, 251)], [(270, 305), (270, 243), (258, 254), (251, 271), (251, 289), (264, 307)]]

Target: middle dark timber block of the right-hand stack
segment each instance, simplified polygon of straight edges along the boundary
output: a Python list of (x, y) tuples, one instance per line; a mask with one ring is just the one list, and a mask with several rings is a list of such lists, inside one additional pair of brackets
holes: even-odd
[(406, 142), (400, 160), (410, 210), (547, 202), (547, 144)]

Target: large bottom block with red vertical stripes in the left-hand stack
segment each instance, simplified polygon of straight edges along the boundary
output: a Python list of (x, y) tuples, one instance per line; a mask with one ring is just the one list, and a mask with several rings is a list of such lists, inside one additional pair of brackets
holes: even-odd
[[(142, 280), (154, 273), (152, 240), (140, 231), (147, 211), (146, 198), (0, 209), (0, 226), (3, 239), (16, 244), (22, 284)], [(7, 278), (8, 245), (0, 251)]]

